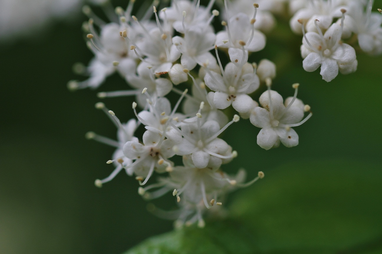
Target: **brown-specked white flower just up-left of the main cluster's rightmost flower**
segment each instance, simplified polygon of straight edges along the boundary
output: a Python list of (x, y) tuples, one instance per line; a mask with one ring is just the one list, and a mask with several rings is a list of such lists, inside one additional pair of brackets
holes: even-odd
[(246, 63), (241, 68), (230, 62), (225, 66), (222, 74), (209, 71), (204, 77), (206, 86), (215, 91), (210, 92), (215, 107), (225, 109), (232, 104), (233, 108), (240, 113), (251, 110), (253, 100), (248, 94), (253, 93), (260, 84), (253, 66)]

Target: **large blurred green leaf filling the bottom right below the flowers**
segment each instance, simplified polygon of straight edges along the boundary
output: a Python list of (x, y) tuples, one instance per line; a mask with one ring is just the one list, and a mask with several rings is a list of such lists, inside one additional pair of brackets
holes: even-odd
[(382, 170), (350, 161), (289, 163), (265, 172), (231, 218), (154, 236), (126, 254), (382, 251)]

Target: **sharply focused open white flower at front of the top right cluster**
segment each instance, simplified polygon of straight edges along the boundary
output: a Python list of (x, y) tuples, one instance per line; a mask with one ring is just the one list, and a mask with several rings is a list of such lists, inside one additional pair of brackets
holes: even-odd
[(340, 43), (341, 34), (342, 26), (337, 23), (332, 24), (325, 35), (321, 30), (319, 34), (304, 34), (301, 45), (304, 70), (313, 72), (321, 66), (320, 74), (327, 82), (337, 77), (338, 70), (343, 74), (355, 72), (358, 64), (355, 50), (346, 43)]

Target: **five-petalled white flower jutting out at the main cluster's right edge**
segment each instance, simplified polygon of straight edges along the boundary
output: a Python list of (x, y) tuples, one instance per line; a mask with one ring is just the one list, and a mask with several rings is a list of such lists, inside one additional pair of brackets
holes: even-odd
[(283, 98), (276, 91), (268, 89), (261, 94), (259, 102), (262, 107), (255, 107), (249, 117), (251, 123), (262, 128), (257, 135), (257, 144), (269, 150), (278, 147), (280, 141), (286, 147), (298, 145), (298, 135), (291, 127), (299, 126), (308, 120), (312, 113), (303, 121), (304, 110), (310, 109), (296, 99), (298, 84), (294, 85), (295, 96), (288, 97), (283, 104)]

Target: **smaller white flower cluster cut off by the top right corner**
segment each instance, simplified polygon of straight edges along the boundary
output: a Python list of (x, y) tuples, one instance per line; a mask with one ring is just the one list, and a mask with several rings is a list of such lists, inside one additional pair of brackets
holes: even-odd
[(382, 16), (371, 12), (372, 4), (372, 0), (292, 0), (290, 27), (303, 34), (304, 70), (313, 72), (321, 66), (322, 79), (329, 82), (338, 71), (357, 70), (357, 42), (365, 53), (381, 54)]

